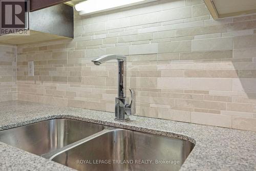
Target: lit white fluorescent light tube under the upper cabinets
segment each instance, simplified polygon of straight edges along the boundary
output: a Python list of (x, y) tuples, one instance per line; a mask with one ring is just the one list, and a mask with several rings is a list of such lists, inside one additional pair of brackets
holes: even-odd
[(158, 0), (87, 0), (76, 4), (75, 10), (79, 11), (80, 15), (88, 15), (154, 1)]

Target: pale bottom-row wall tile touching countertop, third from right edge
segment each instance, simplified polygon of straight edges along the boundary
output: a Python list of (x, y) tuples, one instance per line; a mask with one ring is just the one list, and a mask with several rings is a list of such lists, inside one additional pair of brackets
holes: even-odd
[(190, 122), (191, 114), (188, 111), (158, 109), (158, 118), (176, 120), (181, 122)]

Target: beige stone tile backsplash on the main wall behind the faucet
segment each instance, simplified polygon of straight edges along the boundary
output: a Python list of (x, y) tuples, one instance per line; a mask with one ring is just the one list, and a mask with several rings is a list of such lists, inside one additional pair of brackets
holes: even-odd
[(179, 0), (74, 17), (73, 40), (17, 47), (19, 100), (114, 112), (117, 62), (91, 60), (121, 54), (138, 115), (256, 131), (255, 14), (214, 20)]

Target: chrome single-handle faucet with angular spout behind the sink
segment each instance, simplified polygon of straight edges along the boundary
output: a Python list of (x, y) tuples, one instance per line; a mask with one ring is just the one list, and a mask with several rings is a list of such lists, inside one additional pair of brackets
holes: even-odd
[(108, 60), (117, 59), (118, 62), (118, 80), (117, 96), (115, 100), (115, 120), (128, 121), (129, 115), (136, 113), (135, 109), (135, 91), (130, 89), (132, 100), (127, 103), (126, 99), (126, 57), (123, 55), (104, 55), (92, 60), (95, 65), (99, 66)]

